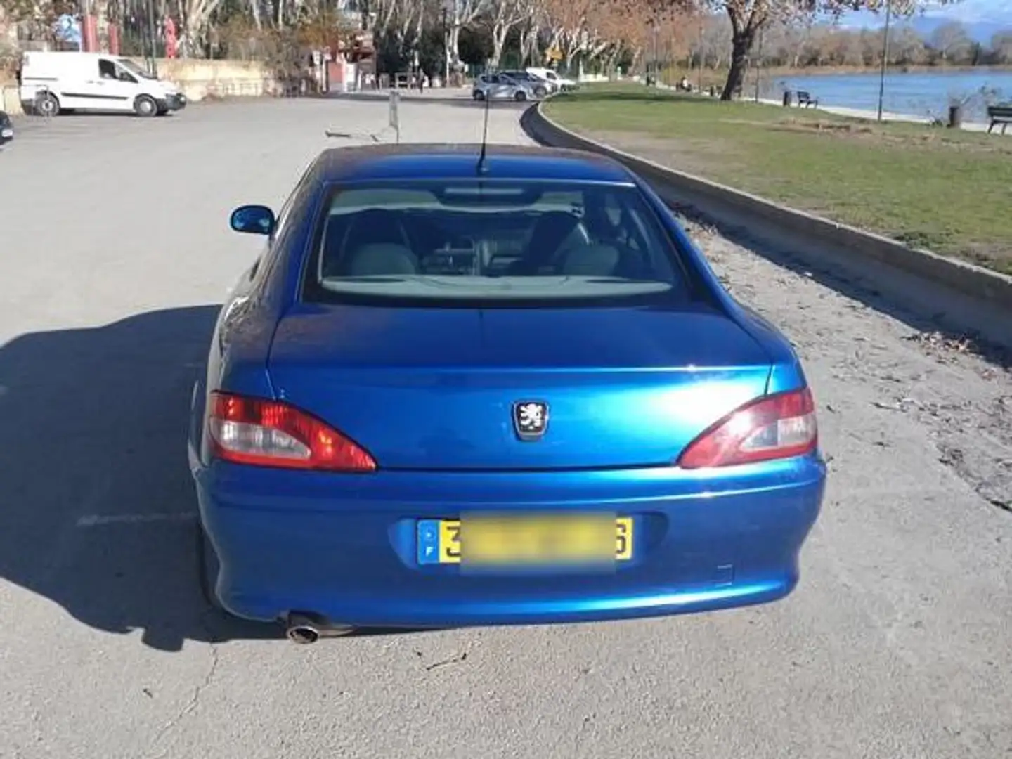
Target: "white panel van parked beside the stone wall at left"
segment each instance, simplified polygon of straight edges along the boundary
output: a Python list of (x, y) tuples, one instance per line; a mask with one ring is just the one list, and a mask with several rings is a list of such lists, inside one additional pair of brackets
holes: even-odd
[(18, 84), (25, 111), (41, 115), (101, 110), (154, 116), (186, 107), (172, 82), (106, 53), (24, 53)]

